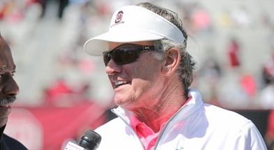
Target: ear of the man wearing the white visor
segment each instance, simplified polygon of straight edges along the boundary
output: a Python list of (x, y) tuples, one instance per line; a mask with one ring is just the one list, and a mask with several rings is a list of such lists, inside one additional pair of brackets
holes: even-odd
[(172, 75), (177, 69), (181, 59), (180, 50), (172, 47), (165, 52), (165, 60), (162, 63), (162, 73)]

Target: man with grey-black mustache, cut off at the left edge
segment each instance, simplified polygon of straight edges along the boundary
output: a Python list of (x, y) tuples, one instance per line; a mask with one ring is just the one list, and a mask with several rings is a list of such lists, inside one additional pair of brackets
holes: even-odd
[(0, 33), (0, 150), (26, 149), (23, 144), (3, 133), (11, 105), (19, 93), (19, 87), (13, 79), (15, 68), (10, 47)]

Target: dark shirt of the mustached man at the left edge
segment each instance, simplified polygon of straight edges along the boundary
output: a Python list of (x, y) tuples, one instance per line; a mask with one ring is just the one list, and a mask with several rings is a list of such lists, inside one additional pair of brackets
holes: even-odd
[(5, 127), (0, 128), (0, 150), (27, 150), (19, 141), (3, 133)]

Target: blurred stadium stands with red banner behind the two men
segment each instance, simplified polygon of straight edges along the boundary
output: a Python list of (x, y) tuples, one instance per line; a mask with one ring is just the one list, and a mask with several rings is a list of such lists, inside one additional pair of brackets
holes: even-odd
[[(207, 103), (252, 119), (270, 144), (274, 1), (148, 1), (183, 20), (188, 52), (197, 61), (192, 87)], [(116, 8), (139, 2), (1, 0), (0, 31), (12, 49), (20, 86), (5, 132), (29, 149), (62, 149), (112, 118), (107, 111), (114, 107), (112, 89), (102, 58), (82, 47), (107, 31)]]

